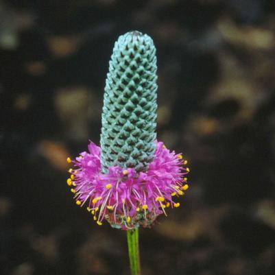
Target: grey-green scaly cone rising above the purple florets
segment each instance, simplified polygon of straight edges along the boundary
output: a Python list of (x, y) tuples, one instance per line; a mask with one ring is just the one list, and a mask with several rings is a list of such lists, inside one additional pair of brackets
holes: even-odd
[(115, 43), (104, 94), (101, 170), (118, 165), (146, 171), (156, 140), (156, 48), (150, 36), (128, 32)]

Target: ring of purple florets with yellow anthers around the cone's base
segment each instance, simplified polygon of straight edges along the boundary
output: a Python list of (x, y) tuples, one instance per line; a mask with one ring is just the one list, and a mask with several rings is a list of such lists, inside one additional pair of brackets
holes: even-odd
[(156, 141), (155, 157), (146, 172), (132, 168), (109, 167), (101, 173), (100, 147), (91, 142), (88, 152), (68, 163), (71, 177), (67, 184), (75, 194), (76, 204), (87, 206), (93, 219), (101, 225), (106, 219), (112, 227), (129, 230), (139, 225), (149, 227), (165, 208), (180, 206), (175, 198), (189, 188), (185, 175), (189, 173), (187, 160), (170, 152)]

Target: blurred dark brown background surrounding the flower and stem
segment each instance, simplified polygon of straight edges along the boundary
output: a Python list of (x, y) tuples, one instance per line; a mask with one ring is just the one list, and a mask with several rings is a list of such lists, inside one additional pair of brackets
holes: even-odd
[(129, 274), (125, 232), (66, 184), (99, 143), (120, 34), (154, 39), (158, 139), (189, 160), (182, 207), (141, 229), (144, 275), (274, 275), (275, 5), (0, 1), (0, 274)]

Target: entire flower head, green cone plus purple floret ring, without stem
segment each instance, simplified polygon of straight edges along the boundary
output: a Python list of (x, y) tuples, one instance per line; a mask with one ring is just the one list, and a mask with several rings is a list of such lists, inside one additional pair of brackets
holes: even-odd
[(189, 188), (187, 160), (156, 141), (156, 56), (152, 39), (130, 32), (115, 43), (107, 75), (101, 147), (68, 163), (76, 204), (101, 225), (149, 227)]

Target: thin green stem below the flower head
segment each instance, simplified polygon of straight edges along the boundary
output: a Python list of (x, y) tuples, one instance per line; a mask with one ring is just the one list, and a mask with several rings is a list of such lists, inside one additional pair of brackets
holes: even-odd
[(131, 274), (141, 275), (141, 264), (139, 261), (139, 228), (127, 231), (127, 241)]

